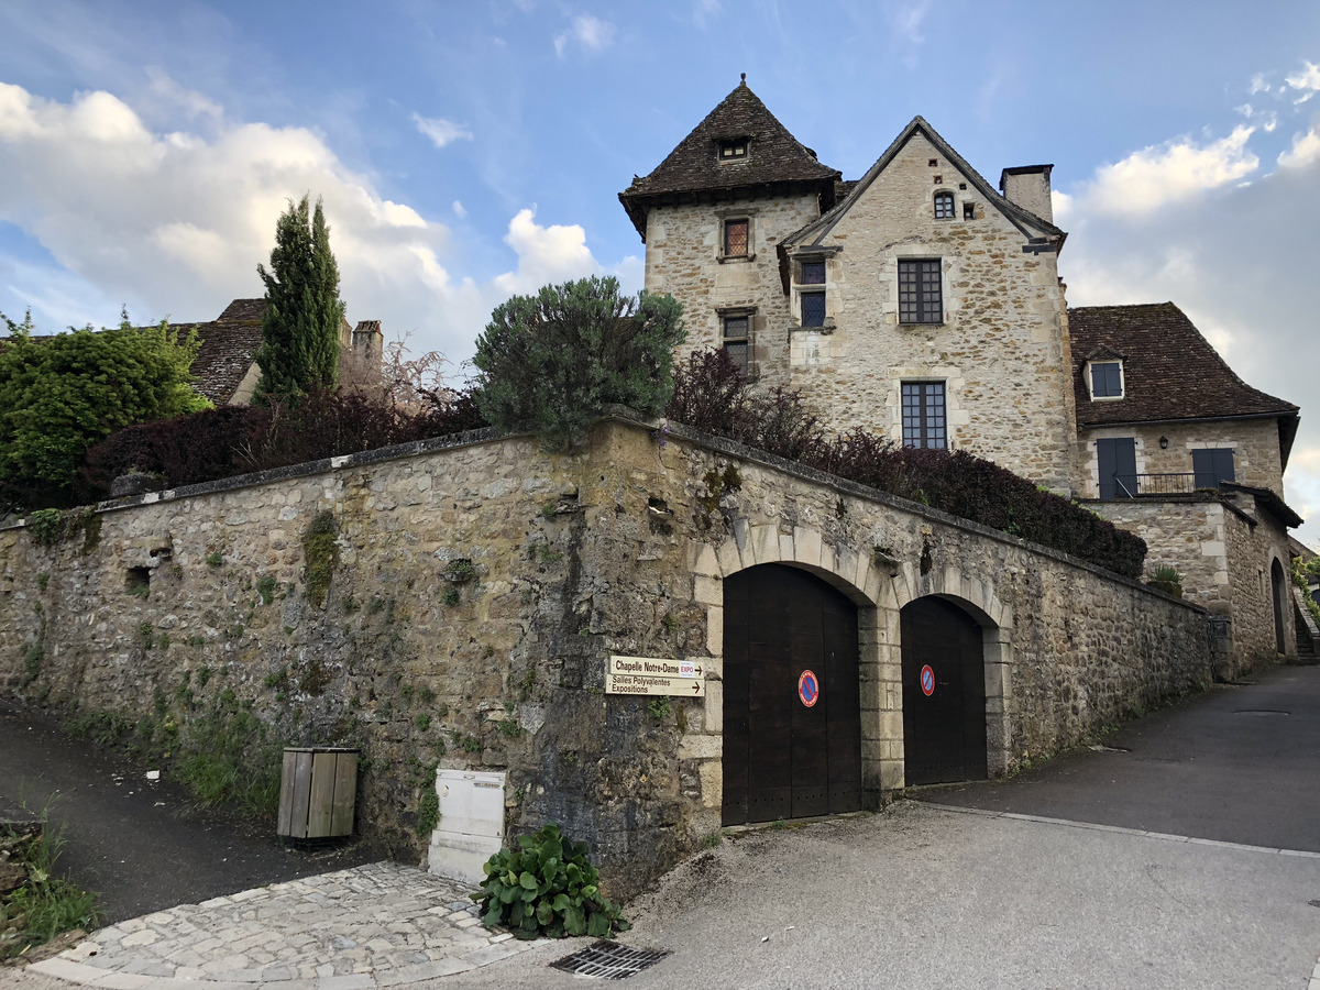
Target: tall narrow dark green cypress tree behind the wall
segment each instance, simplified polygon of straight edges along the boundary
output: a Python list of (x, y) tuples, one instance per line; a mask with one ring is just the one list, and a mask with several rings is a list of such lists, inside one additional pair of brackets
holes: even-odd
[(339, 267), (330, 252), (330, 228), (321, 201), (312, 210), (308, 197), (280, 214), (275, 227), (271, 268), (257, 265), (265, 282), (261, 317), (259, 399), (297, 401), (334, 388), (339, 372)]

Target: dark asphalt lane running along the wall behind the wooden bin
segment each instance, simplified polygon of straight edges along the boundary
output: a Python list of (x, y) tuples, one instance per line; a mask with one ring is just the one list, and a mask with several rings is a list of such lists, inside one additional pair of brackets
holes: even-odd
[(0, 805), (48, 810), (63, 830), (58, 869), (102, 895), (107, 924), (380, 858), (282, 846), (275, 822), (197, 808), (168, 772), (152, 781), (147, 770), (0, 702)]

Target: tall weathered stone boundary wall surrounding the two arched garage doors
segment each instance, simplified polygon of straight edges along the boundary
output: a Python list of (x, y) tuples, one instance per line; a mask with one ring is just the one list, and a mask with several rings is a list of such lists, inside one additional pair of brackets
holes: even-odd
[[(420, 858), (434, 767), (508, 772), (628, 896), (719, 826), (722, 578), (780, 562), (859, 606), (863, 783), (903, 787), (899, 612), (982, 624), (993, 774), (1209, 680), (1206, 614), (1065, 554), (664, 424), (568, 455), (490, 433), (0, 529), (0, 692), (178, 750), (363, 751), (360, 832)], [(606, 696), (609, 655), (700, 657), (705, 698)], [(249, 756), (252, 750), (249, 750)]]

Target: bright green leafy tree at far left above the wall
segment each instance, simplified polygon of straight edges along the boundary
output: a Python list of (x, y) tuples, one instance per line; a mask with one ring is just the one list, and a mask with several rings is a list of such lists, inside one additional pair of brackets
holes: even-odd
[(191, 385), (197, 331), (161, 322), (32, 337), (30, 315), (0, 319), (0, 480), (9, 491), (67, 488), (83, 451), (120, 426), (209, 409)]

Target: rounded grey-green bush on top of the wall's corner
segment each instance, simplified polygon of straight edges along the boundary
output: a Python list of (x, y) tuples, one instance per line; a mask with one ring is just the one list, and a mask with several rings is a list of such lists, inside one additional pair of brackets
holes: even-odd
[(477, 403), (491, 425), (528, 424), (566, 449), (609, 404), (656, 416), (684, 339), (672, 296), (620, 296), (616, 279), (546, 285), (498, 306), (477, 341)]

